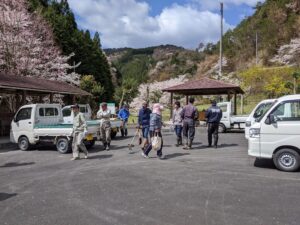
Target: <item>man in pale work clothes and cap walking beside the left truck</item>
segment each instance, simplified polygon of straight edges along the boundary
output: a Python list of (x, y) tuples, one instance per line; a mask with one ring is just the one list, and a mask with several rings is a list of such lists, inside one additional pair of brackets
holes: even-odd
[(85, 122), (85, 118), (81, 112), (79, 112), (79, 105), (75, 104), (71, 106), (74, 112), (74, 120), (73, 120), (73, 142), (72, 142), (72, 151), (73, 151), (73, 158), (71, 160), (80, 159), (79, 149), (83, 151), (85, 154), (84, 158), (88, 158), (88, 151), (83, 144), (83, 139), (87, 134), (87, 125)]

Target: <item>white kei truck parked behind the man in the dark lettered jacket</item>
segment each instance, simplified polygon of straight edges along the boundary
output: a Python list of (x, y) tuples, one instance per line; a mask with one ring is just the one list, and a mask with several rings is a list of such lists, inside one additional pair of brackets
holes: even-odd
[(219, 132), (225, 133), (231, 129), (244, 129), (248, 115), (233, 115), (231, 102), (219, 102), (217, 104), (222, 110), (222, 119), (219, 124)]

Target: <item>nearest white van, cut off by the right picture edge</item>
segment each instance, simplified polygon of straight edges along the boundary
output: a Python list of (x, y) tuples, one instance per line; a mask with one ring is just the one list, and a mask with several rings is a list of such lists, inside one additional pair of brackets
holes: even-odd
[(249, 131), (248, 154), (273, 159), (283, 171), (300, 166), (300, 95), (279, 98)]

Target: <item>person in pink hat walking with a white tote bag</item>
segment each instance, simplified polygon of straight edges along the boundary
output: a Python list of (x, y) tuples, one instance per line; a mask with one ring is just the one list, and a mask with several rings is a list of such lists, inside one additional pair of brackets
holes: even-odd
[[(150, 115), (150, 137), (154, 137), (154, 135), (158, 135), (159, 137), (162, 137), (161, 134), (161, 127), (162, 127), (162, 118), (161, 118), (161, 110), (163, 107), (159, 103), (155, 103), (153, 105), (153, 112)], [(162, 154), (162, 148), (163, 148), (163, 140), (161, 141), (160, 149), (157, 151), (157, 157), (159, 159), (164, 159), (164, 156)], [(144, 158), (149, 158), (148, 154), (152, 150), (152, 143), (149, 143), (148, 146), (145, 149), (145, 152), (142, 152), (142, 156)]]

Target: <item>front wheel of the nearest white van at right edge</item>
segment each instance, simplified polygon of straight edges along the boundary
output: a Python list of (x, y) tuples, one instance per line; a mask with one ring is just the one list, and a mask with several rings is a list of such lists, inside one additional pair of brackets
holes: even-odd
[(273, 162), (279, 170), (294, 172), (299, 169), (300, 156), (295, 150), (284, 148), (274, 154)]

